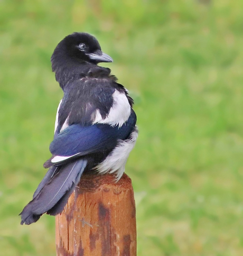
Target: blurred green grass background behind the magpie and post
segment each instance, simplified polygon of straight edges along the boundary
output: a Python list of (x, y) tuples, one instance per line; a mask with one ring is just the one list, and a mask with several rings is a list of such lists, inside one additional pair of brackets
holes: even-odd
[(243, 1), (0, 1), (0, 255), (55, 255), (54, 218), (21, 226), (50, 157), (57, 43), (94, 34), (135, 99), (127, 163), (139, 256), (243, 255)]

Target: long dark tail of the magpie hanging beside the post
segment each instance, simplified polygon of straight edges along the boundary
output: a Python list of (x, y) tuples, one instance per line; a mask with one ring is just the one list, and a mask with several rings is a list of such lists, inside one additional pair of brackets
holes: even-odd
[(61, 167), (51, 167), (36, 189), (33, 200), (20, 213), (21, 225), (38, 221), (43, 213), (61, 213), (86, 165), (87, 160), (79, 159)]

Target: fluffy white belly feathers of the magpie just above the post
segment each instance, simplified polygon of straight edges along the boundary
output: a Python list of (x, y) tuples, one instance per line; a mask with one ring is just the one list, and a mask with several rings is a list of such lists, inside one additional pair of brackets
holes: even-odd
[(116, 172), (116, 180), (118, 181), (121, 176), (123, 176), (129, 153), (132, 151), (136, 143), (137, 134), (137, 129), (135, 129), (135, 131), (132, 132), (130, 139), (120, 141), (116, 148), (110, 152), (107, 158), (94, 169), (101, 174), (106, 172)]

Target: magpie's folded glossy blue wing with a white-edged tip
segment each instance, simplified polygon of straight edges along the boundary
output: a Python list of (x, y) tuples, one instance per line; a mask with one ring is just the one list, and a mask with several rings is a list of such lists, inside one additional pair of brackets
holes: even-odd
[[(53, 154), (51, 163), (113, 149), (118, 140), (125, 140), (129, 136), (135, 123), (136, 114), (132, 110), (127, 122), (121, 127), (100, 123), (89, 126), (70, 125), (51, 142), (50, 151)], [(50, 167), (50, 160), (46, 161), (45, 167)]]

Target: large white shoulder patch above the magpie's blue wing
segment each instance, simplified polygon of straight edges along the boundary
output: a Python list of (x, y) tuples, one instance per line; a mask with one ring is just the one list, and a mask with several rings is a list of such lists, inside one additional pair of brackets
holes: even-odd
[(113, 107), (110, 108), (108, 116), (103, 119), (100, 115), (99, 110), (95, 112), (95, 120), (92, 124), (110, 124), (115, 126), (122, 126), (131, 114), (131, 107), (128, 102), (128, 99), (124, 93), (120, 93), (118, 90), (115, 90), (113, 96)]

